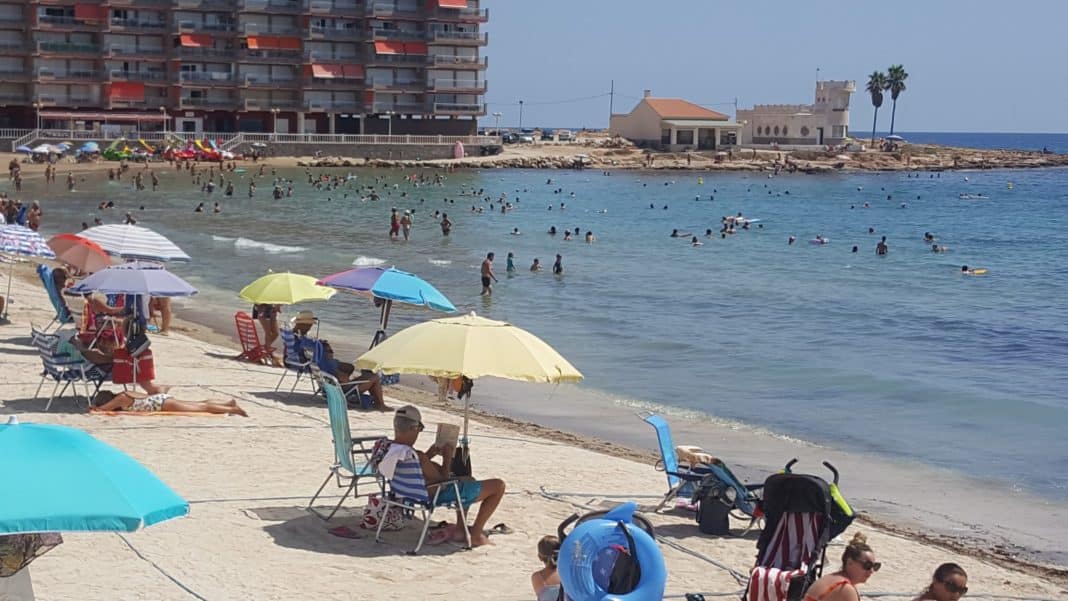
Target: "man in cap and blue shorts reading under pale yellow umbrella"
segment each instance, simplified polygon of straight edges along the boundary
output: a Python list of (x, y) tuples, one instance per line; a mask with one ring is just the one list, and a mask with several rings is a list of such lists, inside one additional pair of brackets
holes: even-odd
[[(386, 479), (392, 479), (398, 462), (411, 461), (418, 458), (420, 465), (423, 468), (423, 478), (426, 480), (427, 492), (433, 496), (437, 488), (436, 485), (450, 479), (449, 461), (455, 448), (452, 445), (444, 448), (430, 445), (425, 453), (415, 450), (415, 441), (419, 439), (419, 433), (423, 431), (423, 416), (419, 412), (419, 409), (411, 405), (406, 405), (397, 409), (393, 415), (393, 442), (390, 444), (386, 457), (379, 462), (378, 471)], [(431, 459), (439, 455), (442, 458), (441, 463), (431, 461)], [(464, 504), (465, 509), (475, 503), (482, 503), (478, 507), (478, 513), (474, 518), (474, 523), (471, 524), (469, 529), (471, 545), (478, 547), (486, 544), (489, 542), (489, 538), (486, 536), (484, 529), (486, 528), (486, 523), (489, 522), (490, 516), (493, 515), (497, 506), (504, 499), (504, 480), (499, 478), (488, 480), (465, 479), (460, 481), (459, 488), (459, 501)], [(453, 487), (445, 488), (438, 496), (439, 504), (446, 504), (454, 501), (456, 499)], [(462, 517), (459, 510), (457, 510), (456, 526), (441, 528), (438, 532), (442, 534), (431, 536), (429, 542), (444, 542), (450, 538), (458, 542), (464, 542), (464, 531), (459, 529)], [(466, 526), (466, 524), (464, 525)]]

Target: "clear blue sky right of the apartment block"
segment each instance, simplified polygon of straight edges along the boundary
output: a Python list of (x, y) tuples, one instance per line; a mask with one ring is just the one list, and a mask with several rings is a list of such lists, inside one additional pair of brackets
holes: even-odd
[[(606, 127), (643, 89), (732, 112), (812, 102), (822, 79), (854, 79), (850, 129), (870, 131), (863, 86), (909, 73), (900, 131), (1068, 132), (1068, 1), (483, 0), (488, 112), (501, 125)], [(588, 98), (591, 96), (599, 96)], [(561, 102), (586, 98), (572, 102)], [(890, 97), (879, 129), (890, 127)], [(487, 116), (484, 124), (492, 124)]]

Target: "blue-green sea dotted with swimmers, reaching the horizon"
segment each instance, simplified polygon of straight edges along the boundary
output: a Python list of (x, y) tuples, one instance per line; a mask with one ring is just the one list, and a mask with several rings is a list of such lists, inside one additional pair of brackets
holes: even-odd
[[(1068, 171), (498, 170), (413, 187), (399, 170), (313, 170), (351, 176), (318, 190), (293, 169), (276, 174), (294, 179), (293, 197), (280, 201), (269, 169), (247, 196), (254, 173), (238, 176), (232, 197), (169, 169), (155, 193), (93, 174), (70, 194), (62, 177), (56, 191), (28, 181), (23, 197), (44, 199), (46, 233), (130, 211), (192, 255), (174, 269), (201, 287), (193, 304), (218, 305), (224, 321), (242, 307), (236, 290), (267, 269), (394, 265), (462, 311), (544, 337), (586, 375), (583, 388), (1068, 501)], [(381, 200), (361, 201), (361, 186), (376, 186)], [(515, 210), (491, 210), (477, 190), (504, 194)], [(97, 210), (101, 200), (116, 207)], [(208, 212), (193, 212), (202, 201)], [(389, 240), (391, 207), (415, 210), (410, 241)], [(452, 236), (441, 235), (436, 210), (455, 223)], [(727, 239), (704, 237), (738, 212), (759, 221)], [(596, 242), (565, 241), (550, 226), (591, 231)], [(676, 228), (704, 246), (670, 237)], [(948, 251), (932, 253), (926, 232)], [(817, 235), (830, 242), (810, 244)], [(881, 236), (886, 256), (875, 254)], [(491, 299), (480, 298), (477, 272), (489, 251), (500, 278)], [(556, 253), (562, 276), (548, 272)], [(545, 272), (529, 271), (534, 257)], [(962, 265), (988, 272), (961, 275)], [(377, 320), (359, 297), (311, 309), (332, 332), (373, 331)], [(402, 309), (393, 329), (431, 316)]]

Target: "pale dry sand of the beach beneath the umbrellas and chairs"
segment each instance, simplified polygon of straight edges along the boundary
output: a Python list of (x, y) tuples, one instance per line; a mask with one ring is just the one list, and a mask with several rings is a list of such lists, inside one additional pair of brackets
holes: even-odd
[[(535, 544), (561, 520), (623, 500), (648, 504), (665, 488), (647, 450), (477, 417), (475, 475), (506, 480), (492, 523), (506, 523), (513, 534), (494, 535), (492, 545), (473, 551), (427, 547), (417, 557), (404, 554), (418, 536), (414, 523), (386, 534), (386, 543), (370, 533), (356, 540), (334, 537), (304, 510), (331, 463), (319, 399), (300, 390), (276, 393), (280, 370), (233, 361), (235, 349), (218, 338), (175, 333), (153, 341), (157, 381), (173, 384), (179, 398), (235, 398), (250, 417), (107, 417), (88, 414), (70, 398), (44, 413), (46, 399), (32, 398), (41, 365), (29, 333), (31, 322), (47, 323), (50, 309), (44, 289), (26, 278), (29, 270), (19, 270), (11, 323), (0, 327), (0, 413), (84, 429), (143, 462), (191, 503), (187, 519), (132, 535), (66, 536), (31, 567), (38, 599), (532, 599), (529, 576), (539, 567)], [(391, 386), (387, 395), (393, 406), (423, 409), (424, 444), (433, 440), (435, 424), (460, 421), (455, 408), (426, 392)], [(349, 420), (354, 436), (386, 434), (391, 423), (388, 414), (357, 411)], [(953, 502), (945, 504), (952, 513)], [(355, 526), (361, 508), (347, 503), (331, 525)], [(669, 598), (740, 591), (733, 572), (751, 567), (752, 536), (703, 536), (688, 513), (650, 518), (669, 568)], [(883, 563), (862, 594), (909, 599), (934, 566), (952, 560), (970, 573), (970, 598), (1068, 598), (1064, 573), (978, 558), (869, 523), (855, 523), (844, 538), (855, 529), (869, 535)], [(838, 543), (829, 548), (831, 564), (841, 550)]]

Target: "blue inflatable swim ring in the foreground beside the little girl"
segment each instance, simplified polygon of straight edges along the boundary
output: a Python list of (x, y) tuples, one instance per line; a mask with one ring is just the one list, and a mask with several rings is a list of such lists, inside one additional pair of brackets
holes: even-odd
[[(571, 516), (560, 525), (557, 573), (564, 592), (571, 601), (660, 601), (668, 582), (668, 569), (656, 540), (649, 534), (653, 526), (637, 518), (635, 503), (626, 503), (611, 511), (584, 517), (570, 534), (568, 524), (578, 520)], [(648, 529), (646, 532), (643, 528)], [(616, 590), (606, 574), (618, 574), (621, 562), (634, 562), (640, 569), (630, 570), (637, 578)], [(639, 573), (640, 572), (640, 573)], [(611, 590), (610, 590), (611, 589)]]

